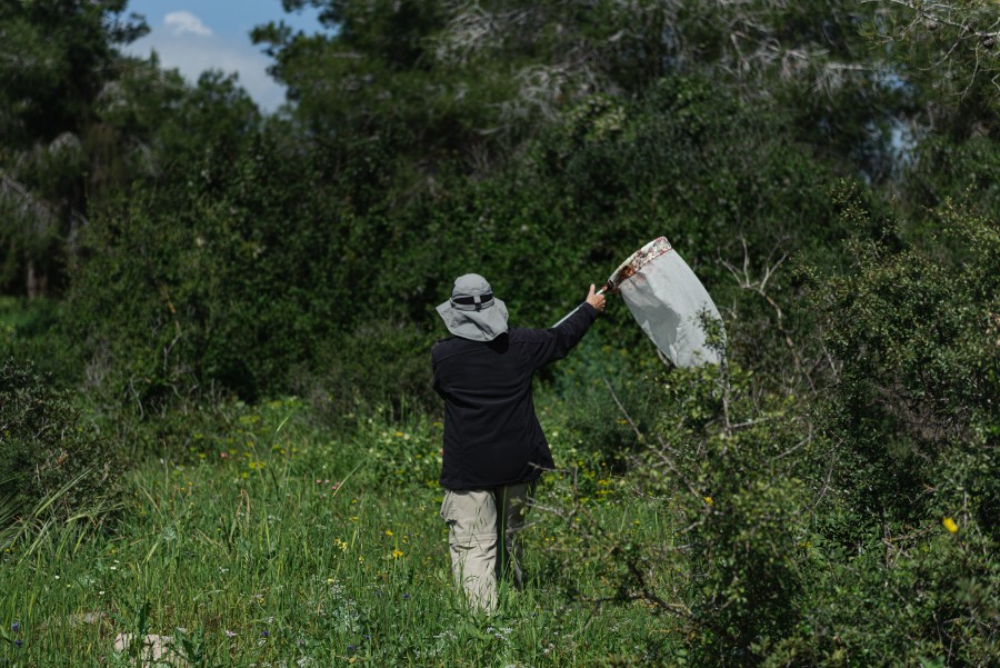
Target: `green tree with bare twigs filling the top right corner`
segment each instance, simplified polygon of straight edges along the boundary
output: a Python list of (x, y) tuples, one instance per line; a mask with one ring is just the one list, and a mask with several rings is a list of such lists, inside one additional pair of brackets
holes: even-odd
[(886, 0), (867, 33), (919, 104), (907, 116), (901, 231), (931, 238), (949, 200), (1000, 213), (1000, 19), (992, 2)]

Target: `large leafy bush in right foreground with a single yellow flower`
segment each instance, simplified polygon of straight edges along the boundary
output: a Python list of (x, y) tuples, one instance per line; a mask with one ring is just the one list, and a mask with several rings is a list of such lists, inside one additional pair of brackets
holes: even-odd
[[(853, 271), (804, 279), (797, 308), (822, 327), (826, 372), (730, 358), (646, 373), (657, 420), (623, 406), (642, 432), (626, 482), (658, 501), (663, 531), (608, 530), (577, 501), (562, 568), (600, 564), (601, 594), (672, 618), (698, 666), (1000, 660), (1000, 236), (934, 215), (950, 252), (862, 232)], [(844, 201), (843, 216), (870, 213)]]

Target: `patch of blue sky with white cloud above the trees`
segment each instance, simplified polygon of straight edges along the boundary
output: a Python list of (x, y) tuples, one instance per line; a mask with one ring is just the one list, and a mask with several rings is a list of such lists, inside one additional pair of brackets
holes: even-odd
[(207, 69), (237, 72), (263, 111), (284, 101), (284, 89), (267, 73), (271, 59), (250, 43), (250, 31), (281, 20), (304, 32), (321, 30), (316, 10), (286, 13), (281, 0), (130, 0), (126, 13), (142, 14), (150, 27), (126, 52), (148, 57), (156, 50), (162, 67), (177, 68), (191, 82)]

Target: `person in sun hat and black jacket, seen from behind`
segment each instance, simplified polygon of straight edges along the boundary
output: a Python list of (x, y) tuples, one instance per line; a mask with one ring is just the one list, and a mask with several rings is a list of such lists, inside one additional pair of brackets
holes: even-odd
[(532, 377), (580, 342), (604, 297), (590, 286), (558, 326), (509, 328), (507, 306), (489, 282), (467, 273), (437, 310), (452, 335), (431, 349), (434, 390), (444, 399), (441, 518), (456, 585), (473, 609), (492, 614), (498, 577), (523, 584), (518, 531), (536, 482), (554, 467), (534, 415)]

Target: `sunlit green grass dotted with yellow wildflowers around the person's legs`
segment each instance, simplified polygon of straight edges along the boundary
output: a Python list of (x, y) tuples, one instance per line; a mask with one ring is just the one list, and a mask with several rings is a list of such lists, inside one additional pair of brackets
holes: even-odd
[[(126, 666), (129, 658), (112, 651), (119, 632), (172, 636), (202, 666), (669, 657), (669, 619), (596, 602), (607, 598), (597, 562), (567, 575), (574, 555), (587, 552), (572, 530), (580, 511), (609, 531), (666, 530), (649, 507), (620, 502), (601, 462), (553, 437), (557, 457), (577, 470), (549, 475), (539, 496), (553, 507), (576, 500), (578, 511), (532, 514), (527, 564), (537, 577), (502, 592), (499, 616), (476, 618), (450, 581), (438, 516), (440, 425), (376, 416), (338, 437), (310, 427), (298, 409), (296, 401), (240, 407), (226, 429), (192, 435), (184, 463), (153, 458), (133, 470), (114, 520), (80, 518), (8, 547), (0, 665)], [(74, 624), (93, 611), (107, 617)]]

